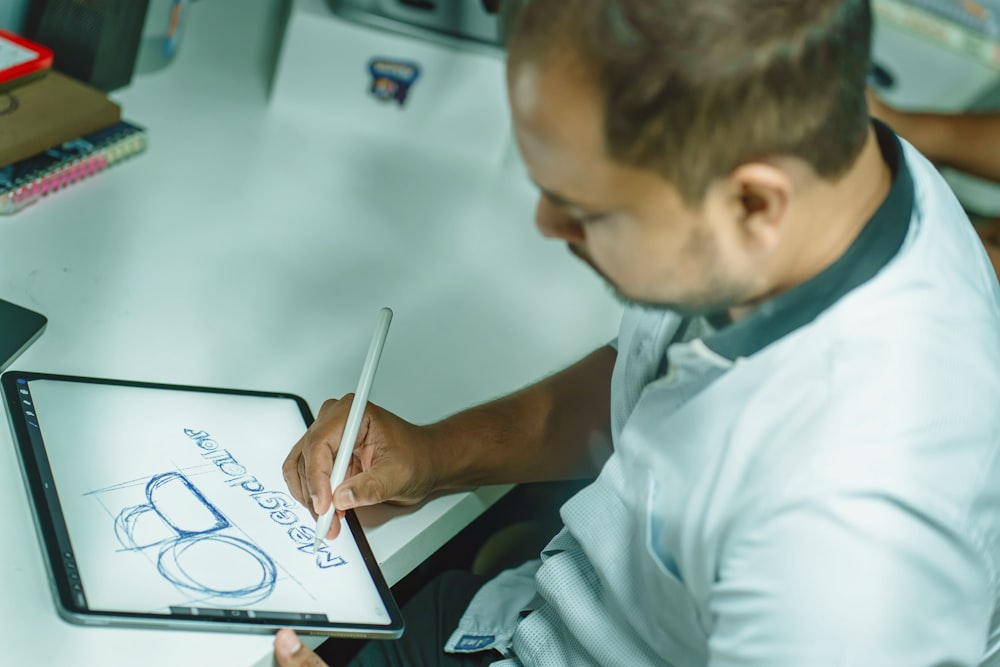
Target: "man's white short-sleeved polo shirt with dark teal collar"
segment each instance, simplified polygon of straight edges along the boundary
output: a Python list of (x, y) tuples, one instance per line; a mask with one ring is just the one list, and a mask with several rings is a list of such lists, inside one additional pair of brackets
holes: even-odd
[(447, 650), (1000, 664), (1000, 288), (934, 167), (877, 130), (891, 191), (827, 270), (714, 331), (626, 311), (614, 453)]

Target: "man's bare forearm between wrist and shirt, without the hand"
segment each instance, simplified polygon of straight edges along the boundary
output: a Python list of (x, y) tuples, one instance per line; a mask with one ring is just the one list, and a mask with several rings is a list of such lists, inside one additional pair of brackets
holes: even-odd
[(430, 429), (442, 487), (595, 475), (610, 455), (611, 371), (603, 347), (569, 368)]

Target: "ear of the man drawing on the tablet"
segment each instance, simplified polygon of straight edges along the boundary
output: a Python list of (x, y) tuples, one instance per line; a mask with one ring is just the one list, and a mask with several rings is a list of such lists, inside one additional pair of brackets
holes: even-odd
[(729, 210), (750, 250), (777, 247), (785, 232), (794, 185), (791, 177), (767, 162), (749, 162), (726, 179)]

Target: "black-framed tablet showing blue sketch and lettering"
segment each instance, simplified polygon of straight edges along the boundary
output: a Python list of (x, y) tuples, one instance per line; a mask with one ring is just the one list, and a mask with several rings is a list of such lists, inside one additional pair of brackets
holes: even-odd
[(2, 386), (66, 620), (402, 634), (354, 512), (313, 552), (281, 473), (312, 422), (298, 396), (20, 371)]

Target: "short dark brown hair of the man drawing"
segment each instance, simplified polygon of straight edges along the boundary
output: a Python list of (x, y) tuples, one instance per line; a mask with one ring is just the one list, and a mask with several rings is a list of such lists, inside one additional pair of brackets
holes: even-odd
[(612, 159), (689, 203), (740, 164), (843, 174), (869, 127), (868, 0), (506, 0), (513, 62), (570, 49), (604, 94)]

